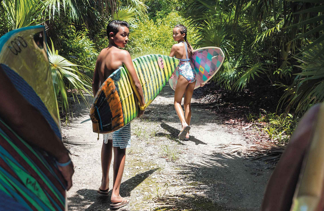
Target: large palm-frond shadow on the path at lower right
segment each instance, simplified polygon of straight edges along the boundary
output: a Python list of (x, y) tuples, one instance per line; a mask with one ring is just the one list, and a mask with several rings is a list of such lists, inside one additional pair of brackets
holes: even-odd
[(204, 193), (207, 199), (214, 199), (209, 203), (213, 202), (230, 210), (260, 209), (260, 193), (264, 192), (267, 178), (271, 174), (271, 170), (266, 170), (269, 165), (260, 162), (247, 163), (242, 158), (217, 152), (204, 153), (199, 156), (198, 161), (181, 165), (178, 172), (186, 175), (183, 180), (191, 185), (187, 190), (189, 193)]

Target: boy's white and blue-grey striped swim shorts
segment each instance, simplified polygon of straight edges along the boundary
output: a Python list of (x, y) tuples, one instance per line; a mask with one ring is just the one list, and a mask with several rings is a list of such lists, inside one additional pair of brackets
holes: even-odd
[(131, 147), (131, 124), (112, 133), (103, 134), (105, 144), (108, 143), (108, 139), (112, 139), (113, 147), (120, 147), (121, 149)]

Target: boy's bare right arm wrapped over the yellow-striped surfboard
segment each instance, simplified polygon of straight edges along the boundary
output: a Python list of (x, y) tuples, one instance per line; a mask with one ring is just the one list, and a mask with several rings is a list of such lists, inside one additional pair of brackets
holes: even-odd
[[(124, 50), (123, 51), (123, 56), (122, 56), (122, 63), (125, 65), (125, 67), (127, 68), (131, 78), (130, 80), (132, 80), (132, 83), (134, 84), (134, 88), (136, 89), (135, 90), (135, 94), (136, 94), (136, 91), (138, 93), (138, 102), (140, 103), (140, 106), (144, 106), (145, 105), (145, 99), (144, 99), (144, 94), (143, 94), (143, 89), (142, 89), (142, 85), (137, 77), (137, 74), (135, 72), (135, 68), (134, 68), (134, 65), (133, 65), (133, 61), (132, 61), (132, 58), (131, 58), (131, 55), (129, 54), (128, 51)], [(137, 95), (137, 94), (136, 94)]]

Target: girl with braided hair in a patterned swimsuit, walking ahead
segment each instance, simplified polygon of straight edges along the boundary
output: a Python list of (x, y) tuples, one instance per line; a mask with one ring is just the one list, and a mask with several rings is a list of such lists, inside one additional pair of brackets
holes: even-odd
[[(179, 79), (174, 94), (174, 107), (181, 122), (179, 140), (189, 140), (190, 119), (191, 119), (191, 97), (196, 84), (196, 74), (191, 68), (189, 57), (192, 55), (192, 47), (187, 40), (187, 27), (178, 24), (173, 28), (173, 40), (177, 41), (171, 48), (170, 57), (180, 60), (178, 64)], [(182, 96), (184, 95), (184, 110), (181, 107)]]

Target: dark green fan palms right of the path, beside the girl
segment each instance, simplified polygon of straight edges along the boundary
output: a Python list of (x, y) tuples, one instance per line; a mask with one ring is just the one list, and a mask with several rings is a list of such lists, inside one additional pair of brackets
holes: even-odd
[(240, 91), (277, 86), (278, 108), (302, 114), (324, 98), (324, 6), (320, 0), (191, 0), (184, 17), (197, 47), (226, 53), (215, 81)]

